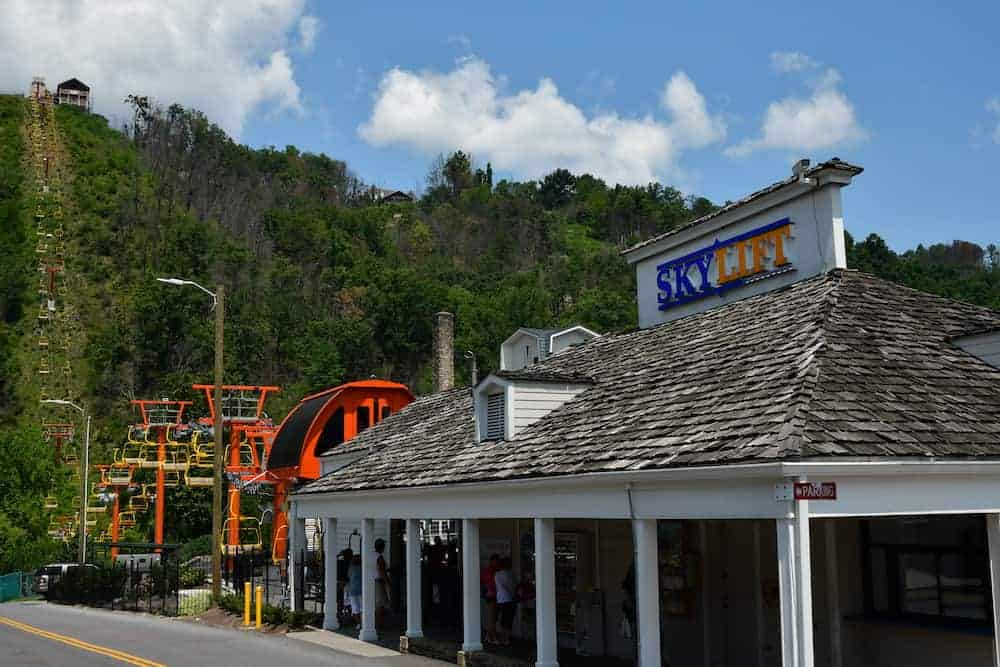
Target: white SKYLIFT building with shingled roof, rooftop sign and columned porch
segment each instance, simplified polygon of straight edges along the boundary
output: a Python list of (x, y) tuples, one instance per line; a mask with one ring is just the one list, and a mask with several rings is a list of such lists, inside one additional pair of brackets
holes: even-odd
[[(626, 251), (638, 330), (527, 364), (519, 332), (476, 387), (352, 440), (292, 496), (293, 539), (457, 521), (465, 654), (510, 553), (540, 667), (1000, 665), (1000, 312), (846, 269), (861, 171), (800, 163)], [(418, 642), (420, 540), (403, 560)]]

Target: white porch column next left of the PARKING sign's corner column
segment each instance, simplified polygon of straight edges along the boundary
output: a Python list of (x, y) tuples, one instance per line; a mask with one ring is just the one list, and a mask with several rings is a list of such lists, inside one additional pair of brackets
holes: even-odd
[(660, 667), (660, 572), (656, 519), (633, 519), (639, 667)]

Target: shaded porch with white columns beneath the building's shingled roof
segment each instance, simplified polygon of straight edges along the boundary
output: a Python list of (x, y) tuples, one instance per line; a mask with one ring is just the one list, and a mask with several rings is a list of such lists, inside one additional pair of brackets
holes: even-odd
[[(580, 664), (606, 656), (638, 665), (996, 665), (997, 466), (757, 464), (305, 493), (293, 498), (292, 539), (304, 539), (307, 517), (323, 520), (326, 607), (336, 609), (338, 522), (361, 519), (362, 545), (374, 542), (376, 519), (405, 522), (405, 565), (390, 571), (403, 582), (404, 636), (415, 640), (435, 611), (429, 579), (409, 576), (427, 567), (423, 540), (410, 536), (421, 535), (422, 520), (460, 522), (465, 664), (483, 651), (509, 654), (484, 646), (479, 577), (490, 554), (509, 552), (515, 580), (534, 595), (518, 607), (515, 644), (530, 647), (519, 657), (536, 665), (577, 656)], [(812, 491), (797, 497), (796, 482)], [(364, 547), (362, 556), (360, 637), (374, 641), (376, 556)], [(301, 583), (292, 586), (296, 600)], [(336, 628), (335, 614), (326, 625)]]

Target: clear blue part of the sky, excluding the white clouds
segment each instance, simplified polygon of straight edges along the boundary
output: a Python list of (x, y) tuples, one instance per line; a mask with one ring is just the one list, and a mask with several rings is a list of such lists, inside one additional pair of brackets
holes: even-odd
[[(998, 118), (986, 108), (1000, 95), (995, 2), (961, 12), (950, 3), (913, 3), (905, 12), (872, 2), (353, 4), (312, 8), (322, 29), (296, 64), (307, 116), (255, 116), (245, 141), (323, 151), (366, 180), (409, 189), (422, 182), (428, 154), (375, 147), (358, 134), (393, 67), (444, 73), (475, 56), (507, 78), (508, 92), (547, 77), (584, 112), (622, 116), (656, 113), (659, 90), (680, 70), (725, 115), (729, 138), (684, 152), (686, 191), (736, 198), (783, 177), (800, 153), (839, 155), (866, 169), (845, 192), (856, 236), (874, 231), (897, 249), (952, 238), (1000, 242), (992, 196), (1000, 145), (990, 136)], [(770, 103), (808, 96), (805, 81), (818, 72), (777, 72), (774, 52), (835, 68), (865, 138), (724, 155), (725, 146), (760, 134)]]

